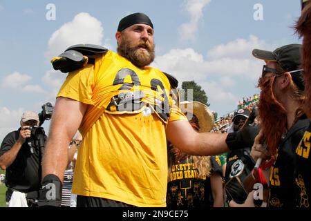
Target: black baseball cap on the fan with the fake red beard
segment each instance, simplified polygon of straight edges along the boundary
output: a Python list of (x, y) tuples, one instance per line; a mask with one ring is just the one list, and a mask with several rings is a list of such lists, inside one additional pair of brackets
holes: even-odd
[[(274, 51), (254, 49), (252, 54), (258, 59), (278, 63), (284, 71), (301, 70), (301, 44), (288, 44)], [(304, 90), (305, 81), (302, 71), (290, 74), (296, 86)]]

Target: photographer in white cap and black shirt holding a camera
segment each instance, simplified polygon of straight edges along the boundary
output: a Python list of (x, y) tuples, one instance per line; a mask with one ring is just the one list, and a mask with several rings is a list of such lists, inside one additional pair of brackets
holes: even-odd
[[(46, 140), (39, 126), (39, 115), (26, 111), (21, 116), (21, 127), (3, 139), (0, 148), (0, 167), (6, 170), (6, 202), (9, 207), (32, 206), (41, 186), (41, 158)], [(40, 134), (38, 134), (40, 132)]]

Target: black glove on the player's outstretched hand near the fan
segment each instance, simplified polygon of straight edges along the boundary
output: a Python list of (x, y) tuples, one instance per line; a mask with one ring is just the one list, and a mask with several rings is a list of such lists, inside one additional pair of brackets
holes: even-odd
[(254, 125), (257, 113), (256, 108), (253, 108), (241, 130), (227, 135), (226, 144), (230, 150), (253, 146), (255, 137), (260, 131), (260, 127)]

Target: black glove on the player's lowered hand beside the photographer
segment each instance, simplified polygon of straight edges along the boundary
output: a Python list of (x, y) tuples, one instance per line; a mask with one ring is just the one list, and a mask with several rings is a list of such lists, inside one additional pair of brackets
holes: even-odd
[(38, 206), (57, 206), (62, 202), (62, 182), (54, 174), (48, 174), (42, 180), (39, 190)]

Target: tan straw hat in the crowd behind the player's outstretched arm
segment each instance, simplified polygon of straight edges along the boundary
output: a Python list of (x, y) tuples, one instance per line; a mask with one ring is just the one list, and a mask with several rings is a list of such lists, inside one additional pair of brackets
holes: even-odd
[(214, 125), (214, 114), (211, 113), (208, 106), (202, 104), (201, 102), (180, 102), (180, 109), (182, 113), (192, 113), (198, 118), (198, 123), (200, 126), (199, 132), (209, 132)]

